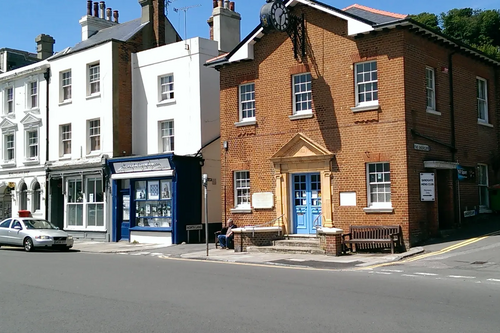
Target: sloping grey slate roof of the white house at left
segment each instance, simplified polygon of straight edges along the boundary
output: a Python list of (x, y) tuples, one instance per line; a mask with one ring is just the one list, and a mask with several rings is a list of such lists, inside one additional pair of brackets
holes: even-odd
[(65, 52), (59, 52), (54, 56), (50, 57), (50, 60), (57, 59), (59, 57), (75, 53), (84, 49), (88, 49), (90, 47), (100, 45), (105, 42), (109, 42), (111, 40), (117, 40), (126, 42), (130, 38), (132, 38), (137, 32), (141, 31), (141, 29), (146, 26), (148, 23), (141, 24), (141, 19), (137, 18), (132, 21), (127, 21), (124, 23), (120, 23), (114, 25), (109, 28), (105, 28), (99, 30), (96, 34), (90, 36), (87, 40), (81, 41), (75, 46), (65, 50)]

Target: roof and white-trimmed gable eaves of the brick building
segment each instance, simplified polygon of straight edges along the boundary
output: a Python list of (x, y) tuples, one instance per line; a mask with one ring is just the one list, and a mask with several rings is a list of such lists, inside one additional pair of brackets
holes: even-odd
[[(489, 57), (488, 55), (475, 50), (461, 41), (452, 39), (438, 31), (416, 22), (415, 20), (412, 20), (408, 15), (391, 13), (358, 4), (354, 4), (341, 10), (316, 0), (285, 0), (286, 7), (292, 8), (296, 5), (309, 6), (331, 16), (347, 21), (347, 34), (351, 37), (382, 31), (385, 29), (409, 27), (412, 28), (412, 31), (418, 32), (423, 36), (429, 36), (429, 38), (439, 40), (444, 44), (457, 48), (460, 51), (468, 53), (472, 56), (479, 57), (484, 61), (493, 63), (497, 66), (500, 65), (499, 61)], [(205, 63), (205, 66), (218, 67), (233, 62), (253, 60), (254, 45), (266, 34), (267, 32), (259, 24), (231, 52), (209, 59)]]

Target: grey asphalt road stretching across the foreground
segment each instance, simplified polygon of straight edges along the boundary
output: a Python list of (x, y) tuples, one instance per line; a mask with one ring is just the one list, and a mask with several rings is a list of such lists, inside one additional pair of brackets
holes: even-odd
[(497, 332), (500, 326), (500, 283), (378, 269), (2, 248), (0, 295), (1, 333)]

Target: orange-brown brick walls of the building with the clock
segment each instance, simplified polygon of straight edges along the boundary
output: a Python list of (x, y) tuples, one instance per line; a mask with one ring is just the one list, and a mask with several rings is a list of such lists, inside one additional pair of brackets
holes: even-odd
[[(295, 59), (286, 33), (270, 31), (254, 45), (254, 60), (222, 66), (220, 70), (223, 210), (237, 225), (263, 225), (277, 217), (276, 207), (234, 214), (233, 176), (250, 171), (251, 193), (273, 192), (276, 175), (270, 158), (297, 133), (335, 154), (332, 160), (333, 226), (401, 225), (410, 247), (435, 235), (449, 223), (456, 225), (454, 202), (456, 172), (424, 168), (424, 161), (458, 161), (464, 166), (491, 165), (498, 154), (499, 70), (491, 62), (461, 53), (409, 29), (392, 29), (362, 37), (347, 36), (347, 22), (307, 6), (293, 8), (304, 14), (307, 56)], [(450, 54), (452, 64), (450, 64)], [(354, 65), (376, 60), (379, 110), (356, 112)], [(452, 152), (450, 73), (453, 66), (453, 106), (456, 151)], [(425, 69), (434, 68), (436, 105), (426, 111)], [(290, 120), (293, 114), (292, 75), (312, 75), (312, 118)], [(489, 123), (478, 125), (476, 76), (488, 82)], [(237, 127), (238, 86), (255, 82), (256, 125)], [(416, 136), (417, 132), (421, 136)], [(431, 138), (429, 140), (428, 138)], [(418, 151), (414, 144), (430, 151)], [(452, 159), (454, 158), (454, 160)], [(389, 162), (392, 213), (367, 213), (366, 163)], [(307, 172), (307, 170), (304, 170)], [(420, 201), (421, 172), (436, 176), (436, 201)], [(497, 179), (489, 168), (490, 184)], [(439, 185), (438, 185), (439, 183)], [(456, 186), (456, 184), (455, 184)], [(290, 185), (288, 184), (288, 187)], [(437, 193), (437, 189), (440, 192)], [(340, 192), (355, 192), (356, 206), (340, 206)], [(441, 200), (439, 201), (439, 199)], [(291, 203), (288, 205), (291, 206)], [(476, 182), (460, 184), (460, 206), (479, 206)], [(445, 214), (448, 212), (448, 214)], [(288, 218), (291, 211), (286, 212)], [(441, 219), (441, 221), (440, 221)], [(445, 221), (446, 219), (446, 221)]]

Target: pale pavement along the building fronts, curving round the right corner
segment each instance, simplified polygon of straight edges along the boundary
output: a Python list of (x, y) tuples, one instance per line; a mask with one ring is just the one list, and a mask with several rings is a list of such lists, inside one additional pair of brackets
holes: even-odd
[(116, 253), (129, 255), (157, 256), (160, 258), (208, 260), (257, 265), (277, 265), (307, 267), (317, 269), (352, 269), (372, 265), (397, 262), (424, 252), (437, 252), (460, 241), (500, 232), (500, 216), (489, 215), (476, 219), (474, 223), (464, 223), (453, 230), (443, 230), (437, 238), (428, 240), (404, 253), (348, 253), (341, 256), (319, 254), (289, 254), (235, 252), (234, 250), (216, 249), (213, 242), (208, 244), (141, 244), (129, 242), (90, 242), (75, 240), (73, 251), (90, 253)]

